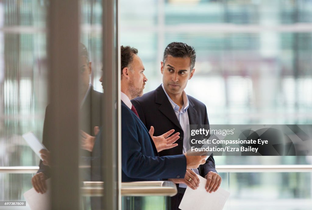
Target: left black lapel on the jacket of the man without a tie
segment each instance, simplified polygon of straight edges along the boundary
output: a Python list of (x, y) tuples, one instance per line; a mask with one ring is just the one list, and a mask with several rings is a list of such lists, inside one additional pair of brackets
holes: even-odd
[(171, 103), (168, 100), (166, 93), (163, 91), (163, 87), (161, 85), (156, 89), (155, 97), (155, 102), (160, 104), (158, 110), (182, 130), (177, 115), (174, 113)]

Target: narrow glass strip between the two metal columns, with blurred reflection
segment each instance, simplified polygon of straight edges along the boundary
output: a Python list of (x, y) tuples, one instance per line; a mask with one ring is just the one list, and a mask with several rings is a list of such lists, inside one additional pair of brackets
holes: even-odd
[[(85, 71), (80, 80), (80, 131), (82, 159), (80, 166), (87, 167), (82, 170), (81, 181), (103, 181), (101, 174), (102, 141), (95, 137), (102, 130), (103, 87), (100, 83), (102, 76), (102, 1), (81, 0), (80, 42), (85, 52), (83, 58)], [(86, 59), (86, 57), (88, 57)], [(85, 97), (85, 98), (84, 98)], [(106, 114), (106, 113), (105, 113)], [(89, 137), (87, 137), (89, 136)], [(91, 138), (94, 138), (92, 140)], [(83, 142), (84, 141), (84, 142)], [(82, 209), (101, 209), (101, 197), (83, 197)], [(103, 205), (102, 205), (103, 206)], [(102, 207), (103, 208), (103, 207)]]

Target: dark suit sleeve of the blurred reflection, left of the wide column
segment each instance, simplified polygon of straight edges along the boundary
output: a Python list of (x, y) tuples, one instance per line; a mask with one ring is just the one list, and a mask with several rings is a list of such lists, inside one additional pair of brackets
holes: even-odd
[[(44, 117), (44, 123), (43, 123), (43, 133), (42, 133), (42, 144), (49, 150), (50, 149), (50, 140), (49, 140), (49, 129), (51, 126), (51, 110), (50, 106), (48, 105), (46, 107), (46, 115)], [(44, 173), (48, 178), (51, 177), (51, 168), (48, 165), (43, 165), (42, 160), (40, 160), (39, 163), (39, 170), (37, 173)]]

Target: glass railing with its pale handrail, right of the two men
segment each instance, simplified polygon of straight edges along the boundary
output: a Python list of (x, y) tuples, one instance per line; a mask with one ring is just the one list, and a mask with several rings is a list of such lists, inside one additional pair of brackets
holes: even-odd
[(312, 165), (222, 165), (216, 167), (230, 198), (224, 210), (308, 210)]

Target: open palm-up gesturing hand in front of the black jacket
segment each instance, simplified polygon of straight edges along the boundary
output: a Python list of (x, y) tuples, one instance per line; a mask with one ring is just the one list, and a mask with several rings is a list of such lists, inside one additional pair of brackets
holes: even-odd
[[(153, 136), (154, 127), (151, 126), (151, 129), (149, 130), (149, 135), (151, 135), (158, 152), (160, 152), (162, 150), (167, 150), (167, 149), (173, 148), (175, 146), (178, 146), (177, 143), (176, 144), (173, 144), (173, 143), (179, 139), (180, 133), (177, 132), (177, 133), (173, 134), (172, 136), (170, 136), (173, 132), (174, 132), (174, 129), (168, 131), (167, 133), (164, 133), (161, 136)], [(168, 137), (168, 136), (170, 136), (170, 137)]]

